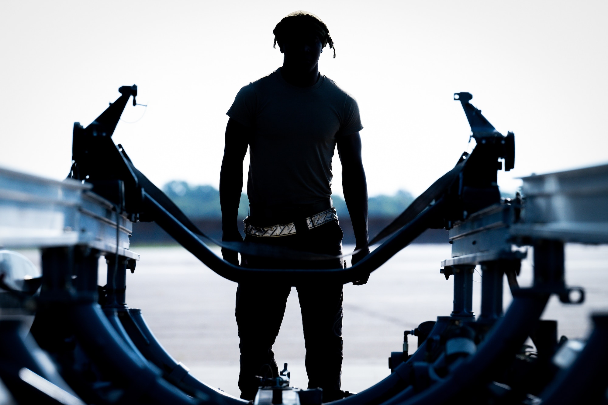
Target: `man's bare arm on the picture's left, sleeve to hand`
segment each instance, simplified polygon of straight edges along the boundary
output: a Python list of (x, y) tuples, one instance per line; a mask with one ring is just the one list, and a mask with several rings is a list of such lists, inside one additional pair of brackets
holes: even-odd
[[(219, 173), (219, 204), (222, 209), (222, 240), (243, 241), (238, 232), (238, 203), (243, 192), (243, 159), (247, 153), (249, 129), (233, 120), (226, 125), (224, 159)], [(238, 266), (237, 252), (222, 249), (224, 260)]]

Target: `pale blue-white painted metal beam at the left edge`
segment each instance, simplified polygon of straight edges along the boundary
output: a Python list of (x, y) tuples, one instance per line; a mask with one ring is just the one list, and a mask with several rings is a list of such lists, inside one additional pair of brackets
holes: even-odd
[(131, 221), (91, 189), (91, 184), (72, 179), (56, 181), (0, 168), (0, 246), (85, 245), (112, 254), (118, 247), (119, 255), (139, 260), (129, 250)]

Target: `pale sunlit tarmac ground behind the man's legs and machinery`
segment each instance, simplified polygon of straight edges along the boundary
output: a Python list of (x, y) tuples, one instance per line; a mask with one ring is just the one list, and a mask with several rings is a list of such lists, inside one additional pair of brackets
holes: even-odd
[[(452, 278), (440, 274), (440, 261), (450, 256), (449, 244), (407, 247), (373, 272), (367, 285), (344, 286), (344, 366), (342, 389), (359, 392), (389, 375), (387, 358), (402, 348), (404, 330), (425, 320), (449, 315)], [(165, 348), (190, 367), (193, 375), (238, 396), (239, 350), (234, 317), (237, 284), (210, 271), (181, 247), (132, 247), (141, 255), (134, 274), (127, 275), (126, 302), (143, 316)], [(345, 246), (344, 251), (352, 250)], [(219, 251), (216, 252), (219, 254)], [(532, 279), (531, 252), (522, 263), (520, 285)], [(568, 285), (586, 289), (586, 302), (565, 305), (552, 297), (543, 319), (557, 319), (558, 332), (585, 338), (589, 314), (608, 311), (608, 246), (568, 245)], [(102, 259), (103, 260), (103, 259)], [(477, 268), (478, 271), (480, 271)], [(100, 261), (100, 284), (105, 284)], [(480, 307), (480, 280), (474, 274), (474, 311)], [(511, 301), (505, 280), (505, 310)], [(260, 308), (260, 311), (268, 308)], [(417, 338), (410, 336), (410, 353)], [(283, 324), (274, 345), (278, 364), (289, 364), (291, 385), (306, 387), (304, 338), (297, 291), (292, 289)]]

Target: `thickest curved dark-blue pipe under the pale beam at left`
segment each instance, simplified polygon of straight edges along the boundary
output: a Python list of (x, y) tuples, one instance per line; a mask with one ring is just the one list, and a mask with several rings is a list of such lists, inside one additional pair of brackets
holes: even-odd
[(124, 391), (122, 403), (199, 403), (162, 379), (159, 370), (128, 347), (103, 314), (97, 303), (98, 257), (98, 251), (82, 246), (45, 249), (41, 308), (32, 325), (38, 344), (57, 354), (62, 375), (85, 401), (104, 400), (92, 385), (83, 384), (74, 354), (66, 350), (66, 336), (100, 370), (103, 381)]

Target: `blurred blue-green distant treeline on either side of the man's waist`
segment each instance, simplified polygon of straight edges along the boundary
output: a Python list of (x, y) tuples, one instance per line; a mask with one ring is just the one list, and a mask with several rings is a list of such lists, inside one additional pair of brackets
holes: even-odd
[[(165, 184), (163, 191), (184, 211), (190, 218), (221, 218), (219, 206), (219, 191), (211, 185), (191, 186), (185, 181), (171, 181)], [(348, 209), (344, 199), (338, 195), (332, 196), (334, 207), (339, 217), (348, 216)], [(395, 195), (379, 195), (369, 198), (370, 218), (395, 218), (413, 201), (413, 196), (406, 191), (400, 190)], [(238, 216), (247, 216), (249, 199), (245, 193), (241, 194), (238, 207)]]

